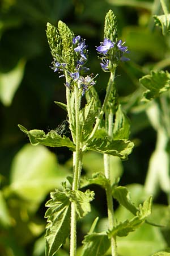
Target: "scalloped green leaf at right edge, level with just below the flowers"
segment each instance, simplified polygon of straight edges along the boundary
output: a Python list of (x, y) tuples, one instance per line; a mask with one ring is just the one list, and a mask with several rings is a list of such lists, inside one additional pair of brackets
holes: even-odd
[(139, 81), (148, 89), (143, 94), (143, 100), (152, 100), (170, 88), (170, 74), (167, 71), (151, 71), (151, 75), (143, 76)]

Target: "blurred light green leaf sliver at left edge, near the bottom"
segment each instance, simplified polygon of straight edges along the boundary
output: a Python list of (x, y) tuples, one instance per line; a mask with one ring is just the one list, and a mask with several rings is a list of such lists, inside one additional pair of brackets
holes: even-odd
[(5, 198), (3, 197), (2, 191), (0, 191), (0, 224), (7, 228), (11, 226), (12, 219), (10, 216), (10, 212), (8, 211), (7, 203), (5, 201)]

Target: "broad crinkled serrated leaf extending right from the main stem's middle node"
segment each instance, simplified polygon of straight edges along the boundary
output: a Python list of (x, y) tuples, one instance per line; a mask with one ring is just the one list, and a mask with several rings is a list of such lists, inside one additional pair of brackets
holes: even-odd
[[(101, 129), (102, 130), (102, 129)], [(97, 131), (98, 133), (98, 131)], [(87, 150), (93, 150), (102, 154), (118, 156), (121, 159), (128, 159), (134, 143), (126, 139), (113, 140), (103, 133), (96, 133), (96, 137), (88, 145)]]

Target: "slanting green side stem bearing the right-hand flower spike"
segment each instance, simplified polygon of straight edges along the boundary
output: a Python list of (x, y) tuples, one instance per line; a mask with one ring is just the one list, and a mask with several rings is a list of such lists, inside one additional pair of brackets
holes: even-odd
[[(112, 86), (113, 86), (113, 83), (114, 83), (115, 71), (116, 71), (116, 66), (114, 67), (113, 72), (111, 72), (111, 76), (110, 76), (109, 81), (108, 81), (108, 86), (107, 86), (107, 91), (106, 91), (106, 94), (105, 94), (103, 106), (101, 108), (99, 116), (96, 118), (96, 123), (95, 123), (94, 129), (92, 130), (91, 134), (89, 135), (89, 137), (86, 141), (86, 144), (88, 144), (88, 142), (90, 142), (91, 139), (94, 137), (97, 129), (99, 128), (101, 119), (103, 118), (103, 115), (104, 115), (104, 112), (105, 112), (105, 109), (107, 107), (107, 103), (108, 103), (108, 100), (109, 100), (109, 96), (111, 95), (111, 92), (112, 92)], [(83, 147), (83, 151), (85, 149), (86, 149), (86, 145)]]

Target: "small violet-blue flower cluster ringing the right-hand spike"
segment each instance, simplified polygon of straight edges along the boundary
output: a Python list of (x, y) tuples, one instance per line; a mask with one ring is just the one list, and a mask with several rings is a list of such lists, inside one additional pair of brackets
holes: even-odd
[(101, 57), (101, 68), (104, 71), (109, 71), (109, 61), (118, 63), (118, 61), (128, 61), (129, 58), (125, 57), (125, 53), (129, 53), (128, 47), (124, 46), (125, 42), (119, 40), (117, 43), (112, 42), (110, 39), (104, 38), (100, 46), (96, 47), (97, 52), (99, 52), (103, 57)]

